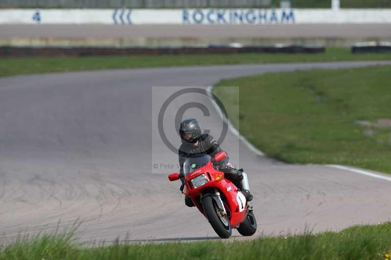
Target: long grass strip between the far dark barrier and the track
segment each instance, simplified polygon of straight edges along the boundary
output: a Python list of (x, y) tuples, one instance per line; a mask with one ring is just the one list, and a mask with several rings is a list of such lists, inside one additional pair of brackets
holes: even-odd
[(31, 57), (0, 59), (0, 77), (81, 70), (195, 65), (255, 64), (267, 62), (316, 62), (342, 60), (391, 60), (388, 54), (352, 54), (348, 48), (327, 48), (322, 54), (196, 54), (91, 57)]

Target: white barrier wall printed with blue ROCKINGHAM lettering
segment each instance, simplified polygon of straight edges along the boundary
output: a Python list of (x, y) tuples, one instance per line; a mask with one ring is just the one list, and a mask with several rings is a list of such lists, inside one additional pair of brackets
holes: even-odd
[(3, 23), (391, 23), (391, 9), (0, 9)]

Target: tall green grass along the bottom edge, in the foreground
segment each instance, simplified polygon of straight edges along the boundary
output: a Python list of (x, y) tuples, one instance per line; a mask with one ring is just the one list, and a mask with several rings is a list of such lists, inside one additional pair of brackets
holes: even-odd
[(373, 260), (387, 259), (391, 223), (354, 226), (341, 232), (266, 237), (251, 241), (200, 241), (82, 246), (73, 233), (19, 239), (0, 249), (0, 260), (62, 259), (223, 259), (223, 260)]

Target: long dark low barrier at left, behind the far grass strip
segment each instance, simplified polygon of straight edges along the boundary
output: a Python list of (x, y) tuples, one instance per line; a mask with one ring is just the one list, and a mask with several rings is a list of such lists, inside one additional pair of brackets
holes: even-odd
[(92, 55), (164, 55), (164, 54), (229, 54), (229, 53), (323, 53), (325, 47), (0, 47), (0, 56), (92, 56)]

